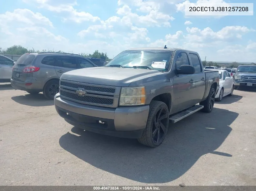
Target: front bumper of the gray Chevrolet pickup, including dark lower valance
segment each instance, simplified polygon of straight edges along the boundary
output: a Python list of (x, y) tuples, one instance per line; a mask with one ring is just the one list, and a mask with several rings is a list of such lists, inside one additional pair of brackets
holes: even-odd
[(63, 99), (59, 93), (54, 97), (54, 104), (58, 114), (73, 126), (124, 138), (140, 138), (149, 113), (149, 105), (99, 107)]

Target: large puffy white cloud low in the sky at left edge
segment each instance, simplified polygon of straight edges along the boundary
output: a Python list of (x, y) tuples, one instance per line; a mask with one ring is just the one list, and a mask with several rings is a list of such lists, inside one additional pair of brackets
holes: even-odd
[[(41, 13), (29, 9), (15, 9), (0, 14), (0, 44), (2, 48), (20, 44), (35, 49), (52, 49), (68, 43), (61, 35), (50, 32), (52, 22)], [(48, 28), (48, 29), (47, 29)]]

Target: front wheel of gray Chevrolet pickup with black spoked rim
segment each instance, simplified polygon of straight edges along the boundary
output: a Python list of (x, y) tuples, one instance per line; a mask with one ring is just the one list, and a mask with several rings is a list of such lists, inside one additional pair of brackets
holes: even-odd
[(163, 142), (169, 127), (169, 110), (161, 101), (152, 100), (149, 104), (147, 126), (138, 142), (149, 147), (158, 147)]

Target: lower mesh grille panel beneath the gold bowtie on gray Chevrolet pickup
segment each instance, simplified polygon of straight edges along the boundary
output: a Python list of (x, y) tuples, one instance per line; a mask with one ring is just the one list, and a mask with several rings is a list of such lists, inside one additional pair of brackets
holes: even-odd
[(64, 97), (78, 100), (81, 102), (87, 102), (87, 103), (98, 103), (103, 105), (113, 105), (114, 99), (112, 98), (103, 98), (103, 97), (93, 97), (93, 96), (79, 96), (78, 94), (70, 93), (67, 91), (60, 91), (60, 94)]

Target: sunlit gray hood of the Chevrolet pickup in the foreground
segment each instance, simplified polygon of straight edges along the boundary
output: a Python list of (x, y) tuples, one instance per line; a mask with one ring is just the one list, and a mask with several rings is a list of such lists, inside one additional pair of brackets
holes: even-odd
[(135, 80), (154, 74), (161, 74), (161, 72), (141, 68), (93, 67), (65, 72), (62, 74), (61, 79), (127, 87)]

